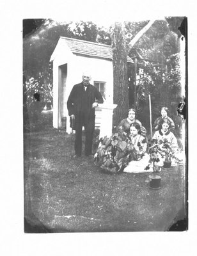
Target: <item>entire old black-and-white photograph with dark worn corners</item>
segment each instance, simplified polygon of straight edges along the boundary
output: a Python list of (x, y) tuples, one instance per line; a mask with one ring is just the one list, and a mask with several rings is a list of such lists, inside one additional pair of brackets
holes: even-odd
[(22, 32), (24, 232), (188, 230), (187, 17)]

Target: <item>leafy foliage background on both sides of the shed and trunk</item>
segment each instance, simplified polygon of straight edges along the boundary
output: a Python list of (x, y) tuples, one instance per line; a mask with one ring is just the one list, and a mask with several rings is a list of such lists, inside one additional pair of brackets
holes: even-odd
[[(135, 67), (128, 65), (126, 69), (123, 68), (124, 72), (120, 70), (120, 74), (123, 74), (126, 79), (126, 84), (121, 81), (117, 86), (125, 88), (121, 90), (124, 94), (123, 98), (127, 99), (129, 94), (129, 108), (135, 106), (139, 120), (143, 120), (143, 125), (147, 128), (150, 127), (149, 93), (152, 97), (153, 121), (160, 115), (162, 106), (170, 109), (171, 117), (176, 116), (175, 109), (182, 98), (178, 54), (181, 34), (178, 27), (183, 19), (184, 17), (166, 17), (156, 20), (127, 52), (131, 58), (138, 58), (136, 104), (134, 102)], [(123, 40), (126, 42), (126, 47), (147, 23), (148, 20), (124, 22)], [(23, 70), (26, 77), (24, 93), (29, 109), (35, 100), (33, 97), (35, 92), (41, 95), (42, 108), (45, 106), (50, 109), (52, 106), (52, 63), (49, 63), (49, 60), (59, 36), (111, 45), (115, 31), (114, 24), (105, 28), (90, 21), (58, 22), (52, 19), (26, 19), (23, 21), (23, 27)], [(33, 28), (31, 32), (28, 30), (30, 27)], [(117, 68), (114, 70), (117, 72)], [(116, 86), (116, 81), (114, 83)], [(126, 115), (126, 112), (120, 113), (114, 125), (118, 124), (120, 118), (126, 117), (122, 116)]]

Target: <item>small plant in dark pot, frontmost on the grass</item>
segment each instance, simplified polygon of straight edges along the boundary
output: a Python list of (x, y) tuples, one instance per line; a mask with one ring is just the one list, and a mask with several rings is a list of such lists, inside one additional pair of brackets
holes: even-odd
[(150, 166), (153, 168), (153, 175), (149, 175), (149, 188), (150, 189), (160, 189), (161, 188), (161, 176), (157, 175), (157, 173), (161, 170), (161, 166), (157, 165), (159, 163), (159, 154), (161, 154), (159, 150), (159, 144), (157, 140), (152, 140), (149, 143), (148, 154), (150, 155), (150, 159), (148, 161), (148, 165), (145, 167), (145, 170), (149, 170)]

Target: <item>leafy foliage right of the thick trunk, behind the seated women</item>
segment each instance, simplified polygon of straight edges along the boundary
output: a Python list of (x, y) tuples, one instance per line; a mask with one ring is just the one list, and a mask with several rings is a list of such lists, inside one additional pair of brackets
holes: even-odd
[[(177, 24), (175, 19), (169, 20), (173, 24)], [(181, 19), (178, 18), (178, 20)], [(156, 20), (138, 38), (136, 35), (140, 35), (148, 23), (148, 21), (125, 22), (124, 31), (129, 55), (138, 58), (136, 72), (138, 80), (136, 81), (135, 77), (135, 66), (129, 65), (129, 85), (132, 88), (133, 94), (134, 82), (136, 81), (138, 100), (135, 107), (138, 110), (139, 118), (144, 121), (143, 124), (146, 127), (149, 127), (148, 94), (152, 96), (152, 114), (154, 119), (159, 114), (161, 105), (169, 107), (171, 100), (175, 100), (175, 97), (180, 96), (181, 93), (178, 63), (178, 28), (176, 31), (174, 26), (173, 31), (171, 31), (166, 20)], [(131, 47), (129, 47), (129, 44)], [(120, 52), (125, 51), (122, 44), (119, 44), (118, 47)], [(116, 92), (116, 88), (114, 92)], [(127, 100), (127, 94), (122, 98)], [(132, 104), (134, 104), (134, 99), (130, 102), (130, 105)]]

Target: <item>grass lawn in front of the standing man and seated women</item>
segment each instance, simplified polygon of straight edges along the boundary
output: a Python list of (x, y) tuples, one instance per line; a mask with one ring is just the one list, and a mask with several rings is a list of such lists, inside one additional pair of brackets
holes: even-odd
[(185, 218), (184, 166), (162, 170), (161, 189), (152, 190), (150, 173), (112, 175), (91, 158), (71, 159), (71, 143), (70, 134), (51, 127), (24, 133), (25, 216), (31, 227), (43, 225), (40, 232), (162, 231)]

